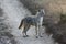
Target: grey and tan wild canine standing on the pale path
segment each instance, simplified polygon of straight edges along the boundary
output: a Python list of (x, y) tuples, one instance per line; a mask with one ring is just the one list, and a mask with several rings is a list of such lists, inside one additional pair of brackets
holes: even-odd
[(41, 9), (36, 13), (37, 16), (35, 16), (35, 18), (26, 16), (26, 18), (22, 19), (19, 29), (21, 29), (22, 26), (24, 26), (23, 32), (22, 32), (24, 37), (28, 36), (26, 35), (26, 31), (30, 29), (31, 25), (35, 26), (36, 37), (41, 36), (40, 28), (42, 26), (43, 15), (44, 14), (45, 14), (44, 9)]

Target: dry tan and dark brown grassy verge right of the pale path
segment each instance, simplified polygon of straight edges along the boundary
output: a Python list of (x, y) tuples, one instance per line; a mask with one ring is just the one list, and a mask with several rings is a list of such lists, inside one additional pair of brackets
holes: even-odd
[(40, 8), (44, 8), (46, 12), (44, 16), (44, 23), (47, 28), (46, 31), (53, 33), (53, 37), (59, 44), (66, 44), (66, 18), (61, 18), (61, 14), (66, 15), (66, 0), (21, 0), (21, 2), (33, 14)]

